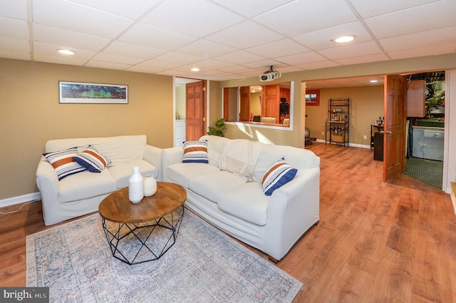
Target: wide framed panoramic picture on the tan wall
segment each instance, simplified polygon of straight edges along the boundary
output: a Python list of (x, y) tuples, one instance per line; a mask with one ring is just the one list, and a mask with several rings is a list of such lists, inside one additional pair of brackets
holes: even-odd
[(58, 81), (58, 103), (128, 104), (128, 86)]

